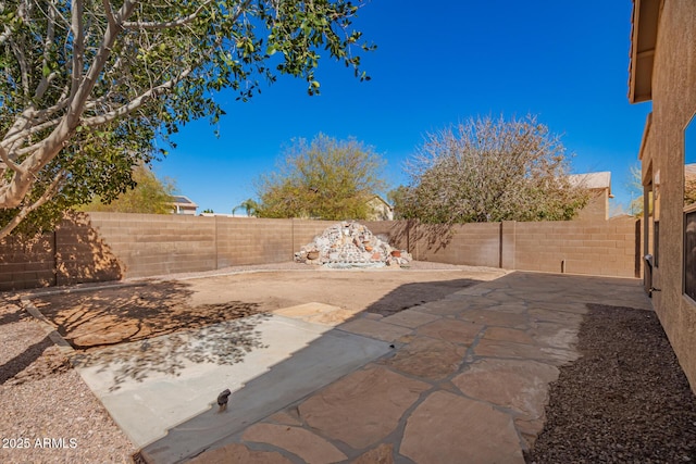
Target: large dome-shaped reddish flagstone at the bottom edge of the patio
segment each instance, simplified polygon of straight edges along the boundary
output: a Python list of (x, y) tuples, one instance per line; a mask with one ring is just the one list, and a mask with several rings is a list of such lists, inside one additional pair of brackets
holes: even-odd
[(413, 411), (399, 453), (417, 463), (524, 463), (509, 415), (444, 391)]

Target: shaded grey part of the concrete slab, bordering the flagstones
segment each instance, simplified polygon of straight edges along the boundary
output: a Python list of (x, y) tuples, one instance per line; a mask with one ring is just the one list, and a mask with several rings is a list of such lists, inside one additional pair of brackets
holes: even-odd
[[(164, 438), (145, 447), (141, 453), (149, 463), (176, 463), (213, 444), (220, 447), (246, 427), (390, 350), (388, 343), (380, 340), (343, 330), (326, 331), (233, 392), (226, 411), (220, 413), (216, 406), (209, 409), (171, 428)], [(215, 396), (210, 399), (214, 400)]]

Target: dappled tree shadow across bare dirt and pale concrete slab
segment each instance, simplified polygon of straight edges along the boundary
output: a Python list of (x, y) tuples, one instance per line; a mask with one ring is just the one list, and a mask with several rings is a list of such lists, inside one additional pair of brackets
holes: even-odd
[[(268, 315), (257, 303), (191, 305), (190, 285), (150, 283), (35, 299), (78, 353), (78, 367), (113, 371), (113, 391), (159, 373), (178, 375), (190, 364), (235, 364), (262, 348), (254, 328)], [(166, 336), (166, 337), (164, 337)]]

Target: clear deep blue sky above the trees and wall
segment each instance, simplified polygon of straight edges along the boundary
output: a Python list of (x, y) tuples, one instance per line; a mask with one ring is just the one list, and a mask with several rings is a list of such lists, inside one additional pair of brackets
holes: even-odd
[(626, 98), (631, 9), (630, 0), (373, 0), (357, 20), (378, 47), (363, 57), (371, 81), (325, 61), (319, 97), (287, 76), (247, 103), (222, 92), (220, 125), (185, 126), (154, 171), (174, 178), (199, 212), (229, 213), (256, 197), (254, 179), (293, 138), (353, 136), (387, 160), (396, 187), (425, 133), (471, 116), (532, 113), (575, 153), (573, 172), (611, 171), (614, 201), (627, 203), (650, 111)]

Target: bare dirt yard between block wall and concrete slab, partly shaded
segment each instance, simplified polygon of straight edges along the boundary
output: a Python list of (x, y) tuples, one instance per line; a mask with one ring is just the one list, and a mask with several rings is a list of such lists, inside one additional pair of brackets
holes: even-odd
[(253, 272), (129, 283), (32, 301), (74, 348), (88, 350), (308, 302), (389, 315), (500, 275), (457, 268)]

